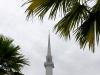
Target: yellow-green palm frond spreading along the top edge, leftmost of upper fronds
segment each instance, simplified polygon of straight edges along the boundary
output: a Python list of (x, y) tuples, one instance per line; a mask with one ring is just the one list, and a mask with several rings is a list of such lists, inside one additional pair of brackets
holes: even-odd
[(44, 15), (50, 10), (49, 18), (55, 18), (57, 11), (60, 13), (66, 14), (70, 11), (74, 4), (81, 3), (82, 1), (87, 0), (31, 0), (29, 7), (26, 9), (27, 17), (29, 18), (32, 15), (38, 15), (43, 19)]

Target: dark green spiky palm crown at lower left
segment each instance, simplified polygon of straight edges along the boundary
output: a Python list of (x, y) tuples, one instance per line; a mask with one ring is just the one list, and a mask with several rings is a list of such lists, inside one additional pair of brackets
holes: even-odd
[(28, 65), (13, 40), (0, 35), (0, 75), (23, 75), (21, 68)]

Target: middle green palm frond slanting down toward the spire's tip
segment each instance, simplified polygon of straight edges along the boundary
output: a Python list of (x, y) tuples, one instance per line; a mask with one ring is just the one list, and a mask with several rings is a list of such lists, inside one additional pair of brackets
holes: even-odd
[(70, 31), (75, 29), (76, 25), (83, 23), (87, 16), (87, 7), (76, 3), (71, 11), (55, 25), (56, 32), (60, 33), (61, 36), (68, 38)]

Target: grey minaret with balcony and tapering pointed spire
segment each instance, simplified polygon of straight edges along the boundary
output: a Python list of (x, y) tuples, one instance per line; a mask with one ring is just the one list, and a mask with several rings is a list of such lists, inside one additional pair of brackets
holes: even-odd
[(53, 75), (54, 64), (52, 62), (52, 55), (51, 55), (50, 34), (48, 36), (48, 51), (47, 51), (46, 62), (44, 63), (44, 66), (46, 69), (46, 75)]

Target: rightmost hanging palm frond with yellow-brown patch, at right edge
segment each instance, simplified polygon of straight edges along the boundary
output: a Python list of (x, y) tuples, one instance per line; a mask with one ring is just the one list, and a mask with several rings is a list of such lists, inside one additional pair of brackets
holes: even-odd
[(92, 8), (87, 20), (76, 30), (76, 40), (80, 47), (85, 48), (88, 44), (92, 52), (95, 51), (95, 42), (99, 44), (100, 35), (100, 1)]

